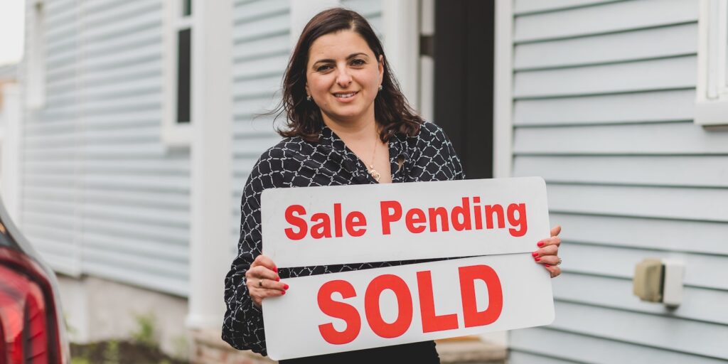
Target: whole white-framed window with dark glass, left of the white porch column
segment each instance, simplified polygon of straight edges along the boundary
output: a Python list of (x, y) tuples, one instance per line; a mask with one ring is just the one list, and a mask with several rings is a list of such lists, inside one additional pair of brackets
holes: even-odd
[(193, 119), (194, 9), (192, 0), (165, 1), (162, 140), (189, 146)]

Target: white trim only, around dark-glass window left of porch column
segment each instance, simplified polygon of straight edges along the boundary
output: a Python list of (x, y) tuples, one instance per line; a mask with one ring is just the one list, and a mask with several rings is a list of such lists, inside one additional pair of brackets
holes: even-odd
[[(177, 33), (181, 29), (192, 29), (190, 88), (194, 90), (194, 79), (197, 73), (195, 53), (199, 49), (194, 41), (195, 14), (194, 4), (190, 17), (181, 17), (180, 0), (164, 1), (162, 20), (162, 142), (170, 148), (189, 148), (192, 138), (192, 124), (177, 122)], [(194, 92), (190, 95), (190, 119), (194, 119), (196, 104)]]

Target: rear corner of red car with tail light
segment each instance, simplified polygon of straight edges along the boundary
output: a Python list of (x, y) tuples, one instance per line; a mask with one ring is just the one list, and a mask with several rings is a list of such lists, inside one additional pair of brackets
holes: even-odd
[(0, 364), (69, 362), (55, 274), (0, 200)]

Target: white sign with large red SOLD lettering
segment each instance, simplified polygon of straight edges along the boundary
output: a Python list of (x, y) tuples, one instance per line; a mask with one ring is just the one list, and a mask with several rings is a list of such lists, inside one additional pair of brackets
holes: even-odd
[(553, 321), (548, 272), (530, 254), (478, 256), (282, 280), (263, 320), (273, 360)]

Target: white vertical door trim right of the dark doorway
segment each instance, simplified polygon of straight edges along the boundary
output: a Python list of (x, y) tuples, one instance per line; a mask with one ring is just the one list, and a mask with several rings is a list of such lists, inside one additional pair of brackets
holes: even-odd
[(513, 4), (496, 0), (493, 90), (493, 177), (513, 173)]

